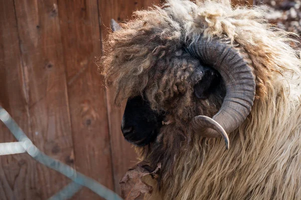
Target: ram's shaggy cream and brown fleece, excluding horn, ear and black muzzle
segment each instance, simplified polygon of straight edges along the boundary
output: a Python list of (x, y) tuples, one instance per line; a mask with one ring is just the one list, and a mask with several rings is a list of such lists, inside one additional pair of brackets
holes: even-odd
[[(169, 0), (136, 11), (106, 41), (100, 60), (106, 81), (113, 79), (116, 103), (145, 94), (174, 122), (160, 130), (141, 159), (162, 163), (157, 190), (149, 199), (301, 199), (301, 62), (287, 32), (263, 19), (259, 8), (232, 8), (228, 0)], [(223, 97), (197, 99), (199, 60), (183, 46), (203, 34), (226, 34), (252, 59), (256, 99), (244, 123), (221, 138), (203, 138), (189, 122), (213, 116)], [(156, 187), (156, 185), (160, 185)]]

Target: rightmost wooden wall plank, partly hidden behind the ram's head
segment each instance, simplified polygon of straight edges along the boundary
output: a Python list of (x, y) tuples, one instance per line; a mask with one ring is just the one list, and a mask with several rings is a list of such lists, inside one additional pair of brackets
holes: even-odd
[[(151, 6), (154, 3), (160, 3), (160, 0), (99, 0), (102, 40), (106, 38), (111, 18), (114, 18), (117, 22), (125, 21), (131, 18), (134, 10), (142, 7), (147, 8), (147, 6)], [(137, 155), (131, 145), (122, 136), (120, 124), (125, 104), (121, 107), (114, 106), (114, 92), (112, 87), (108, 87), (106, 90), (112, 144), (114, 187), (115, 191), (120, 194), (120, 178), (130, 166), (135, 164)]]

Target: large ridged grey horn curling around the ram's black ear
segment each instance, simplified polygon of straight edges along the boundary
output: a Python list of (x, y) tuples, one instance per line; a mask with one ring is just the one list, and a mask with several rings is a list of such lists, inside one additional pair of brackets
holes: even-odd
[(229, 148), (227, 132), (232, 132), (246, 119), (255, 97), (255, 73), (247, 52), (229, 38), (214, 37), (208, 41), (199, 35), (188, 51), (202, 62), (211, 65), (222, 76), (226, 96), (220, 110), (212, 118), (199, 115), (193, 118), (195, 131), (205, 137), (222, 135)]

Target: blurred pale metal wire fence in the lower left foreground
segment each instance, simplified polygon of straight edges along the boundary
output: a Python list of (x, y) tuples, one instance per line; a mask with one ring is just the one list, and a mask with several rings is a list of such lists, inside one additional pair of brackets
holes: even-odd
[(69, 199), (83, 186), (85, 186), (107, 200), (121, 200), (121, 198), (115, 192), (101, 185), (94, 179), (83, 175), (82, 173), (76, 171), (74, 168), (68, 166), (67, 164), (62, 163), (59, 160), (53, 159), (46, 155), (44, 152), (40, 151), (37, 148), (37, 146), (35, 146), (33, 142), (28, 138), (28, 136), (24, 133), (24, 131), (12, 118), (12, 116), (1, 106), (0, 120), (4, 122), (4, 124), (10, 129), (10, 131), (18, 140), (17, 142), (0, 143), (0, 155), (27, 152), (41, 164), (44, 164), (62, 173), (63, 175), (69, 177), (72, 180), (71, 183), (69, 183), (67, 186), (65, 186), (62, 190), (54, 194), (49, 199)]

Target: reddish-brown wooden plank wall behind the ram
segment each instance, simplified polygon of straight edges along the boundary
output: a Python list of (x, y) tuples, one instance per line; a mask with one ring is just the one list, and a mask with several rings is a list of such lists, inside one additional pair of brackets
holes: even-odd
[[(93, 62), (111, 18), (159, 2), (0, 0), (0, 102), (42, 151), (118, 193), (136, 159), (120, 131), (123, 107)], [(0, 142), (10, 141), (0, 123)], [(27, 154), (0, 156), (1, 200), (47, 199), (69, 182)], [(84, 188), (73, 199), (100, 198)]]

